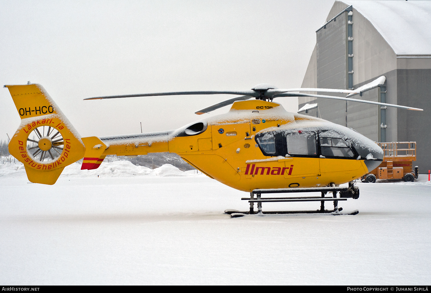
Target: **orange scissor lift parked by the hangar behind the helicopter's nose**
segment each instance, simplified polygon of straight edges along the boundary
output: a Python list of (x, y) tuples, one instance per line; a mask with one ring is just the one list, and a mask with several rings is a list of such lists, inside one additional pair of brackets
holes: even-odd
[(418, 167), (413, 170), (416, 160), (416, 142), (379, 142), (384, 151), (381, 164), (361, 177), (362, 182), (376, 182), (376, 179), (403, 179), (413, 182), (418, 179)]

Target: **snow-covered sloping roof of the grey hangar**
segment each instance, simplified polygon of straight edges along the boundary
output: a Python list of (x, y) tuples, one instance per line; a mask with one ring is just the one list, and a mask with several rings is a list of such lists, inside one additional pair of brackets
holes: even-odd
[[(397, 55), (431, 54), (431, 1), (342, 1), (368, 19)], [(353, 15), (353, 25), (355, 23)]]

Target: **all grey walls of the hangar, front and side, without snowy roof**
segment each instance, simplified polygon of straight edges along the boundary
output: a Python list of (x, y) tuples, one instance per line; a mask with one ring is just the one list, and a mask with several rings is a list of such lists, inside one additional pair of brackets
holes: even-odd
[[(348, 8), (342, 1), (335, 1), (326, 21)], [(397, 55), (374, 25), (352, 7), (350, 19), (347, 12), (337, 16), (325, 28), (316, 32), (316, 46), (303, 80), (302, 87), (347, 89), (347, 58), (353, 58), (353, 88), (384, 75), (384, 86), (372, 89), (353, 98), (386, 102), (422, 108), (409, 111), (397, 108), (341, 102), (330, 99), (299, 97), (299, 108), (306, 103), (318, 106), (307, 114), (351, 127), (376, 142), (417, 142), (417, 161), (420, 173), (431, 169), (428, 145), (431, 136), (431, 52), (429, 55)], [(384, 13), (384, 11), (382, 11)], [(350, 20), (347, 23), (347, 20)], [(352, 37), (347, 25), (352, 25)], [(348, 56), (348, 43), (353, 42), (353, 54)], [(326, 94), (326, 93), (322, 93)], [(329, 94), (329, 93), (328, 93)], [(334, 94), (329, 94), (334, 95)], [(343, 96), (340, 94), (339, 96)]]

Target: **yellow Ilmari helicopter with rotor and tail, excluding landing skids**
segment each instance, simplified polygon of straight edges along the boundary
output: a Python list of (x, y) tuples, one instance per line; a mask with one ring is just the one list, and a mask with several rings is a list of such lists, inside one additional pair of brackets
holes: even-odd
[[(337, 186), (375, 169), (383, 159), (381, 148), (352, 129), (320, 118), (289, 113), (272, 100), (312, 96), (422, 111), (349, 98), (384, 81), (385, 77), (380, 77), (356, 90), (278, 89), (269, 84), (259, 84), (245, 91), (88, 98), (241, 95), (196, 112), (204, 114), (232, 104), (228, 113), (198, 120), (177, 130), (84, 138), (79, 136), (41, 85), (6, 85), (22, 119), (9, 142), (9, 152), (24, 163), (29, 181), (50, 185), (56, 182), (64, 167), (81, 158), (84, 158), (81, 169), (91, 170), (99, 167), (109, 154), (137, 156), (171, 152), (207, 176), (241, 191)], [(325, 96), (299, 91), (348, 95)]]

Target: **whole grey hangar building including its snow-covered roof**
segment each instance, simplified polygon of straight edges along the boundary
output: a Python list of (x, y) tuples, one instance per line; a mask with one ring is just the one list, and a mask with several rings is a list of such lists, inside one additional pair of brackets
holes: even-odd
[(316, 45), (302, 87), (356, 89), (385, 76), (384, 85), (351, 98), (424, 111), (299, 97), (298, 113), (353, 128), (375, 142), (415, 141), (415, 164), (420, 173), (428, 173), (430, 24), (431, 1), (335, 1), (326, 22), (316, 31)]

